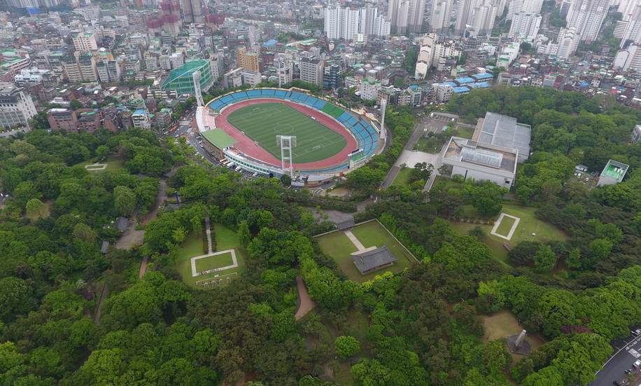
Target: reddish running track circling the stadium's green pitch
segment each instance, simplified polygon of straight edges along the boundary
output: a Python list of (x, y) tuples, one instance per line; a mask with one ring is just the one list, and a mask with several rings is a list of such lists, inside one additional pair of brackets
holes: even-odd
[[(294, 168), (297, 170), (325, 169), (327, 167), (340, 165), (347, 160), (349, 153), (351, 153), (355, 149), (358, 149), (358, 142), (356, 142), (356, 139), (351, 135), (351, 132), (349, 132), (346, 127), (341, 125), (337, 120), (326, 116), (320, 111), (314, 110), (308, 106), (302, 106), (294, 102), (285, 101), (283, 99), (260, 98), (244, 100), (234, 103), (231, 106), (225, 107), (225, 109), (223, 109), (223, 112), (218, 114), (214, 121), (216, 123), (216, 127), (225, 130), (228, 135), (237, 140), (237, 143), (234, 145), (234, 147), (239, 151), (247, 154), (248, 156), (256, 158), (257, 160), (261, 160), (264, 163), (269, 163), (276, 167), (280, 167), (281, 165), (281, 160), (274, 157), (272, 153), (269, 153), (269, 151), (262, 149), (262, 147), (255, 144), (255, 142), (253, 142), (253, 139), (244, 135), (242, 132), (240, 132), (240, 130), (234, 127), (229, 122), (229, 120), (227, 120), (227, 117), (238, 109), (246, 106), (251, 106), (253, 104), (262, 103), (282, 103), (291, 106), (306, 116), (316, 118), (316, 120), (321, 125), (324, 125), (325, 127), (330, 128), (330, 130), (339, 133), (339, 135), (347, 140), (346, 146), (343, 148), (343, 150), (339, 151), (339, 153), (334, 154), (334, 156), (331, 156), (329, 158), (325, 158), (324, 160), (318, 160), (310, 163), (295, 163)], [(275, 137), (274, 141), (276, 141)]]

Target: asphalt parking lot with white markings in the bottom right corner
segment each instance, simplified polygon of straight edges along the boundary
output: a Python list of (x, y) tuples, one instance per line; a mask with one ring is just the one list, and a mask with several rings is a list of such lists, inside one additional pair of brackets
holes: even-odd
[[(635, 326), (634, 329), (638, 327)], [(631, 333), (625, 339), (615, 340), (612, 347), (612, 357), (596, 373), (596, 380), (590, 386), (612, 386), (616, 385), (614, 382), (619, 382), (619, 385), (640, 385), (640, 369), (635, 368), (634, 364), (641, 360), (641, 334)], [(634, 382), (628, 382), (628, 370), (635, 375)]]

